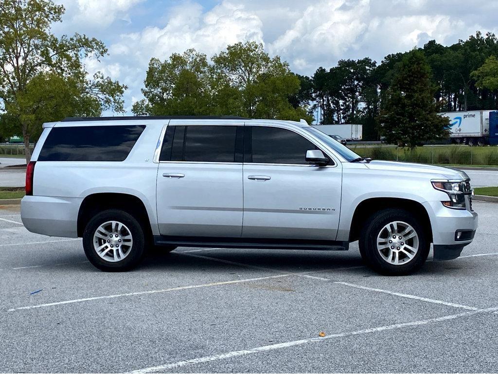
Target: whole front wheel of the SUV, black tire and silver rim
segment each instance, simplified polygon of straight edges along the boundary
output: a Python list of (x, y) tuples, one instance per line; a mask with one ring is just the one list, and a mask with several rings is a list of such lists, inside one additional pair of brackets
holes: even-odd
[(430, 249), (420, 220), (404, 209), (374, 213), (365, 224), (359, 245), (367, 265), (386, 275), (406, 275), (418, 270)]

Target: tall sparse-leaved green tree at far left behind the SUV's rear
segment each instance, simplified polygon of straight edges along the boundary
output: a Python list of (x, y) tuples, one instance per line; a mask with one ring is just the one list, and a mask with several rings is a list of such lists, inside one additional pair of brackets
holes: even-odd
[(101, 73), (86, 78), (82, 59), (104, 56), (105, 45), (85, 35), (58, 38), (50, 32), (63, 13), (51, 0), (0, 3), (0, 110), (22, 133), (27, 161), (29, 141), (43, 122), (106, 109), (124, 112), (125, 86)]

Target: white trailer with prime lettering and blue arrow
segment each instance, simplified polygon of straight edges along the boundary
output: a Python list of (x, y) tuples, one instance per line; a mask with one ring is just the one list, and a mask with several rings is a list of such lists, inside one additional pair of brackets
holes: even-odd
[(450, 139), (452, 143), (485, 145), (490, 136), (491, 111), (445, 112), (440, 116), (450, 119)]

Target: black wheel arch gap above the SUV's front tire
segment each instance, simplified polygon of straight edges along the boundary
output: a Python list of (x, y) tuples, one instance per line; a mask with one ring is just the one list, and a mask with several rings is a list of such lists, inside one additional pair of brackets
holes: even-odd
[(374, 197), (361, 201), (355, 209), (349, 234), (349, 241), (354, 242), (360, 238), (360, 232), (373, 213), (381, 209), (398, 208), (406, 209), (413, 212), (421, 222), (425, 232), (428, 234), (430, 243), (432, 243), (432, 226), (429, 214), (425, 207), (415, 200), (397, 198), (397, 197)]

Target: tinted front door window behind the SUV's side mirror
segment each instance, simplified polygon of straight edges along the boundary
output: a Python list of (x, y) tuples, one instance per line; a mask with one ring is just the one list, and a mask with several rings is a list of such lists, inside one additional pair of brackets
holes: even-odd
[(304, 164), (306, 151), (317, 147), (303, 136), (284, 128), (251, 126), (252, 160), (272, 164)]

